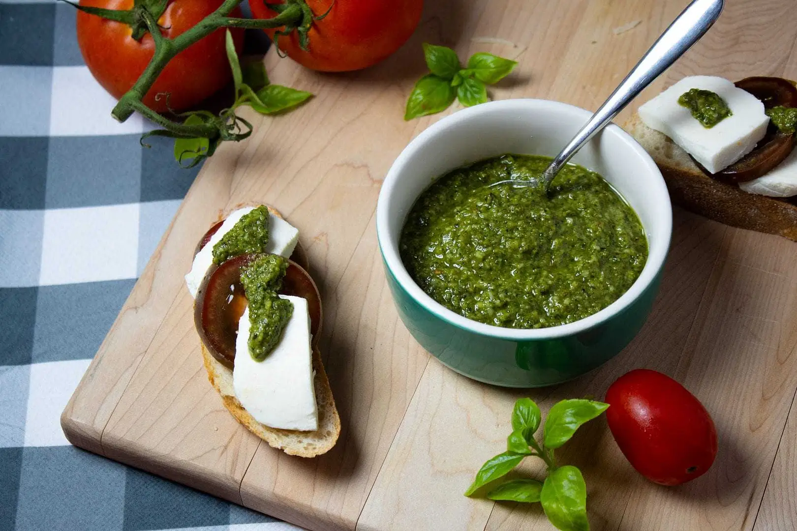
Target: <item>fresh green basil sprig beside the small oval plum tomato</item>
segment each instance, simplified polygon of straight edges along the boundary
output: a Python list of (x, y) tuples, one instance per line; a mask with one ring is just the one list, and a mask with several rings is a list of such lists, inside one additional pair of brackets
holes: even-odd
[(587, 485), (581, 470), (571, 465), (559, 467), (554, 450), (571, 439), (579, 427), (606, 411), (609, 404), (593, 400), (562, 400), (548, 412), (542, 444), (534, 437), (542, 414), (530, 398), (521, 398), (512, 410), (512, 433), (507, 437), (507, 451), (488, 459), (477, 472), (465, 496), (508, 474), (525, 457), (543, 459), (548, 476), (544, 482), (518, 478), (501, 482), (487, 493), (491, 500), (540, 502), (545, 516), (562, 531), (587, 531)]

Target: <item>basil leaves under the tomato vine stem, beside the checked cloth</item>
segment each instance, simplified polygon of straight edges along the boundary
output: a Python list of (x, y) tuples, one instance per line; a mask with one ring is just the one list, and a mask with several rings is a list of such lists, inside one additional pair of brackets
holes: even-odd
[[(261, 115), (273, 115), (288, 111), (312, 96), (310, 92), (270, 84), (269, 76), (265, 73), (263, 61), (259, 59), (245, 61), (243, 68), (241, 68), (238, 53), (235, 51), (233, 36), (230, 34), (229, 29), (226, 33), (226, 51), (235, 84), (235, 103), (227, 110), (230, 114), (236, 107), (249, 105)], [(198, 125), (215, 119), (214, 115), (208, 111), (186, 112), (180, 116), (186, 116), (183, 125)], [(251, 124), (246, 122), (245, 119), (238, 117), (238, 120), (245, 127), (251, 129)], [(208, 139), (176, 138), (175, 159), (181, 166), (186, 160), (190, 161), (190, 163), (185, 167), (196, 166), (198, 162), (214, 153), (218, 142), (218, 139), (210, 143)]]

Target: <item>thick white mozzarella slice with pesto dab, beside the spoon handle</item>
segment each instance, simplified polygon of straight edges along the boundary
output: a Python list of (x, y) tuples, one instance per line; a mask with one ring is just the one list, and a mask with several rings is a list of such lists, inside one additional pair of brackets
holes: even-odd
[[(716, 92), (728, 104), (732, 115), (714, 127), (703, 127), (689, 109), (678, 104), (681, 94), (692, 88)], [(638, 113), (647, 127), (669, 136), (712, 174), (752, 151), (764, 138), (769, 123), (764, 103), (716, 76), (685, 77), (639, 107)]]

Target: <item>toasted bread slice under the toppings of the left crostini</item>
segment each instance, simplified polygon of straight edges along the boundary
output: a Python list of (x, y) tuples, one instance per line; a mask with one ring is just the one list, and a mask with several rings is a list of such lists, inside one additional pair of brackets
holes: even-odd
[[(258, 205), (260, 204), (242, 203), (235, 205), (230, 212), (245, 206)], [(266, 206), (268, 206), (269, 212), (275, 216), (282, 217), (277, 212), (277, 209), (273, 209), (269, 205)], [(224, 219), (230, 212), (220, 216), (219, 221)], [(307, 269), (307, 255), (304, 249), (300, 247), (300, 244), (296, 245), (296, 251), (293, 256), (298, 259), (297, 263), (300, 263), (301, 267)], [(313, 349), (312, 352), (312, 368), (315, 373), (313, 384), (316, 388), (316, 405), (318, 407), (318, 429), (316, 431), (296, 431), (270, 428), (254, 420), (254, 417), (243, 408), (241, 402), (235, 397), (233, 371), (219, 363), (202, 342), (200, 342), (200, 346), (202, 346), (202, 359), (205, 362), (205, 369), (207, 369), (207, 378), (210, 380), (210, 384), (218, 391), (218, 394), (222, 396), (224, 407), (249, 431), (269, 443), (269, 446), (279, 448), (285, 451), (286, 454), (300, 457), (316, 457), (316, 455), (325, 454), (335, 446), (340, 435), (340, 416), (338, 415), (335, 398), (332, 396), (332, 388), (329, 386), (327, 373), (324, 370), (324, 364), (321, 363), (321, 355), (318, 349)]]

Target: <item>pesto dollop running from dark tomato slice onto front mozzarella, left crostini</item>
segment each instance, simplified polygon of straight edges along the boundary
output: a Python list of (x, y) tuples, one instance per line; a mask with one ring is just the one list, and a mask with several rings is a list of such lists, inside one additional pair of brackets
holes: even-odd
[(287, 269), (288, 260), (279, 255), (258, 256), (241, 269), (241, 284), (249, 301), (249, 323), (252, 325), (249, 353), (255, 361), (263, 361), (279, 344), (282, 331), (293, 314), (293, 303), (277, 296)]

